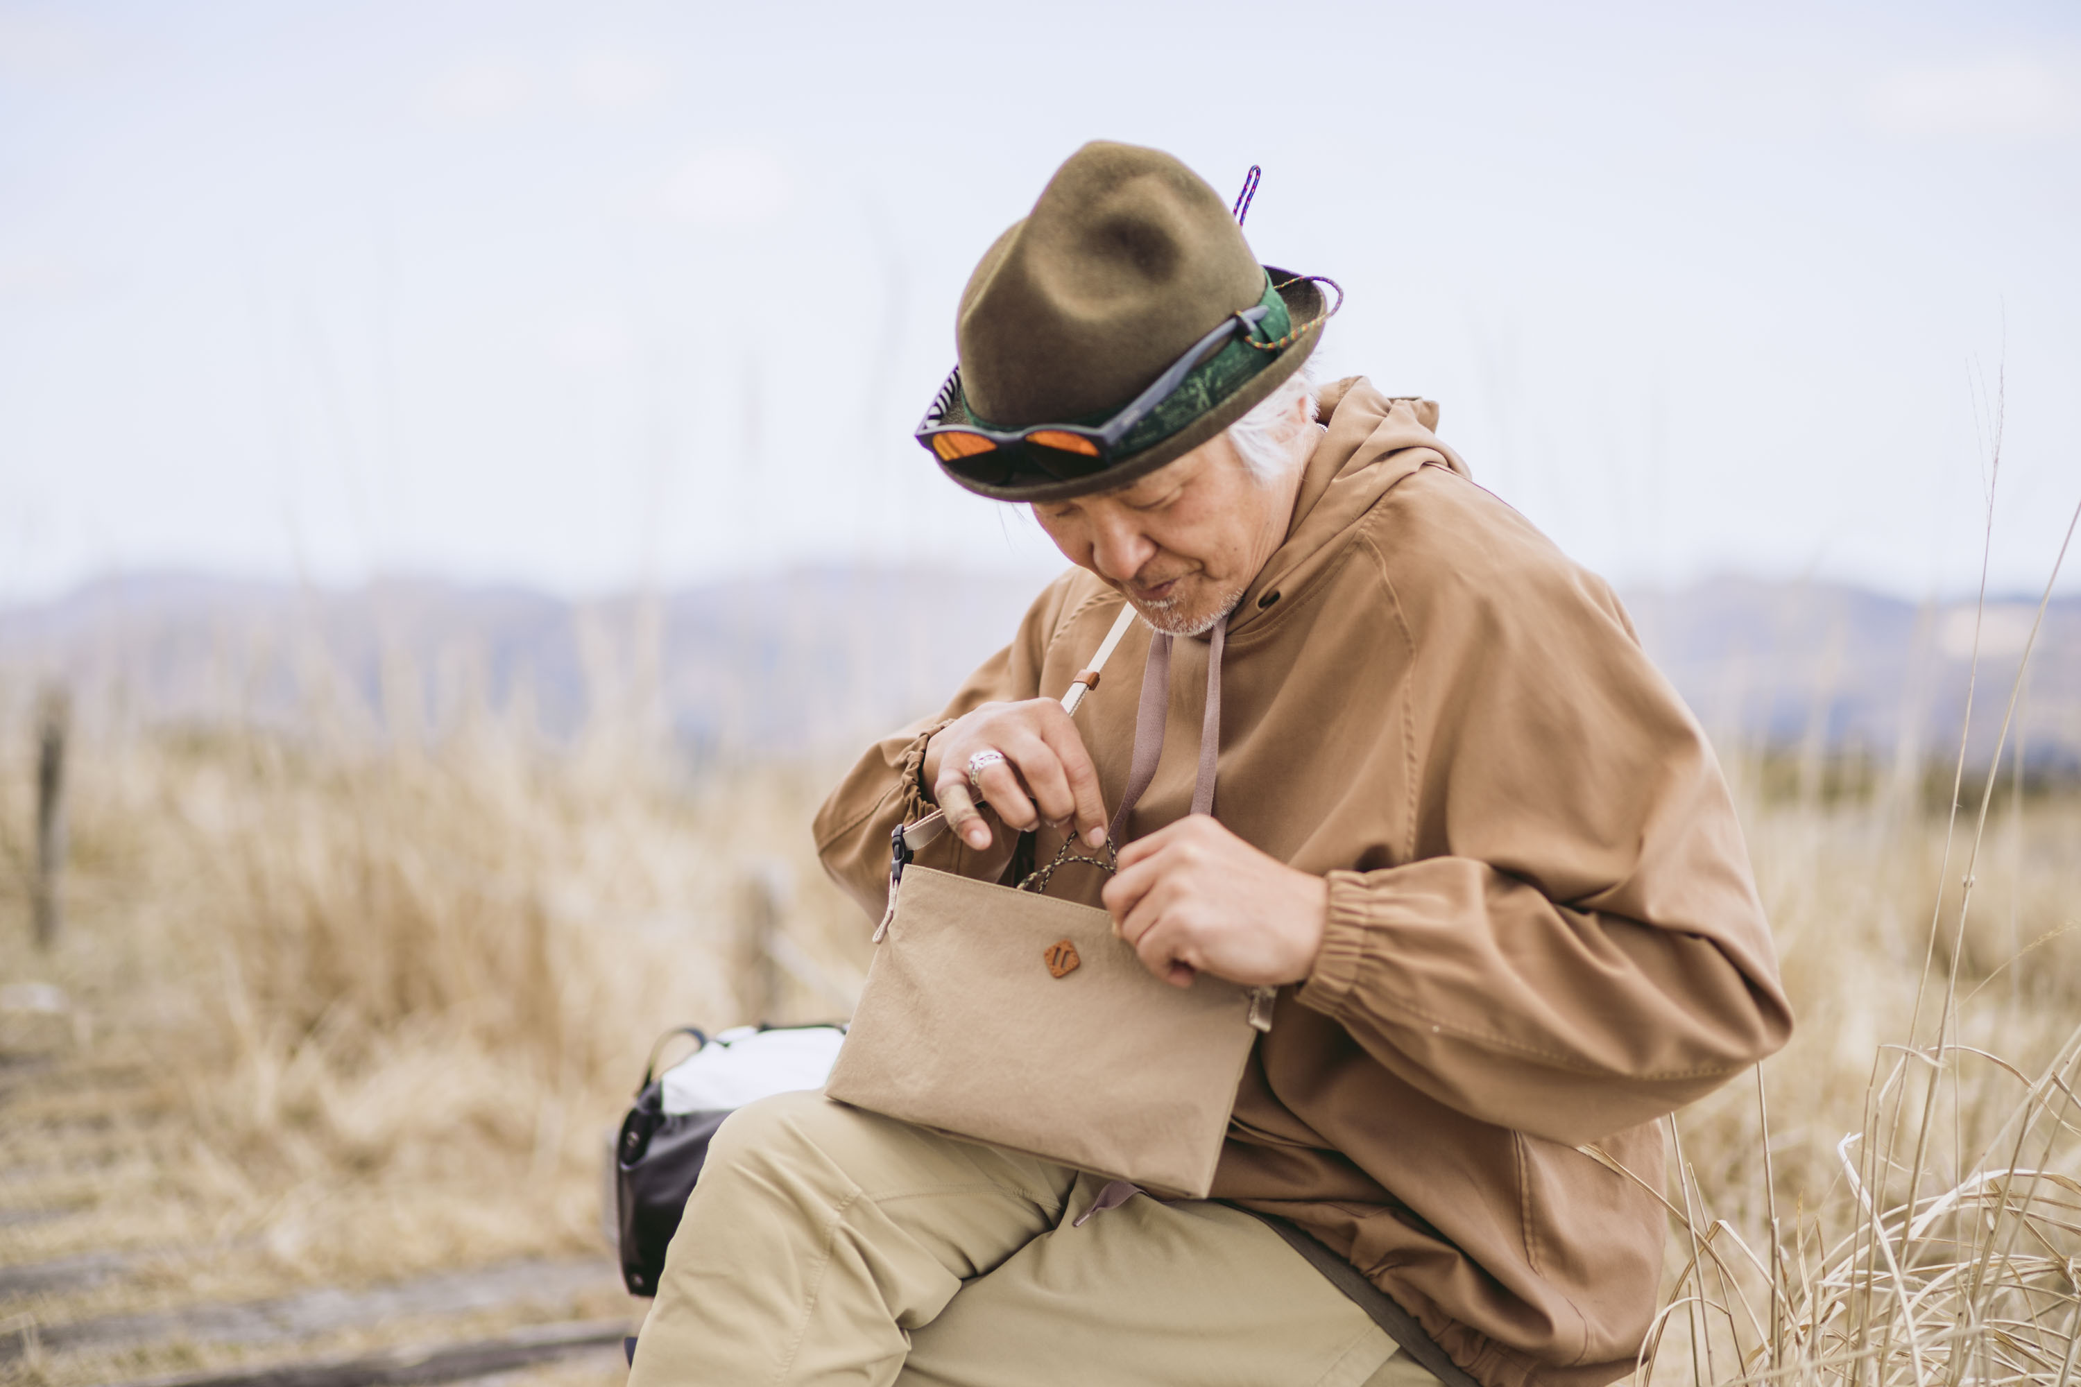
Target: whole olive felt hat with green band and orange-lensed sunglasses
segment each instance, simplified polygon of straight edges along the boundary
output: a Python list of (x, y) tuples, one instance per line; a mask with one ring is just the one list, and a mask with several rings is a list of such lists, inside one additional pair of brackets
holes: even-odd
[[(1086, 143), (970, 274), (955, 326), (959, 366), (918, 439), (947, 476), (1001, 501), (1124, 487), (1271, 395), (1315, 349), (1332, 312), (1315, 279), (1261, 266), (1236, 216), (1182, 162)], [(1234, 331), (1222, 333), (1224, 324)], [(1140, 399), (1180, 372), (1159, 401)], [(1149, 408), (1105, 447), (1090, 441), (1130, 403)], [(1005, 439), (1047, 424), (1072, 426), (1084, 441), (1065, 433), (1040, 441), (1065, 441), (1088, 457), (1045, 453), (1072, 466), (1030, 464), (1043, 449)], [(951, 430), (995, 433), (1007, 445), (934, 437)], [(968, 455), (970, 447), (986, 457)]]

